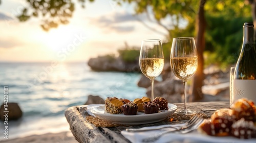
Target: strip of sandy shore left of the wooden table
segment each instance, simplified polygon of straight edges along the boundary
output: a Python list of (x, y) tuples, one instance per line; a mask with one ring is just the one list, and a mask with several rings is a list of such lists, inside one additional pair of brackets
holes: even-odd
[(42, 135), (31, 135), (14, 139), (1, 139), (1, 143), (77, 143), (71, 131), (60, 133), (47, 133)]

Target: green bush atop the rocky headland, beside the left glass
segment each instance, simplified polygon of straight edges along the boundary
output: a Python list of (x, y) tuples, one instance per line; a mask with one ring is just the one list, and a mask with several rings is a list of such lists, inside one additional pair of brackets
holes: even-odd
[(125, 62), (137, 62), (140, 56), (140, 50), (138, 47), (132, 47), (118, 50), (119, 56)]

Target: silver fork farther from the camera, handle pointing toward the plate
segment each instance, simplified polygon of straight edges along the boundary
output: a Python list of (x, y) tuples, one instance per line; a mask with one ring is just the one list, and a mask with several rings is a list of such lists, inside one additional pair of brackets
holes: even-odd
[(169, 125), (169, 126), (162, 126), (162, 127), (156, 127), (156, 128), (126, 129), (126, 131), (128, 131), (128, 132), (140, 132), (140, 131), (160, 130), (160, 129), (164, 129), (164, 128), (173, 128), (173, 129), (175, 129), (173, 131), (177, 131), (177, 130), (180, 130), (180, 129), (189, 128), (190, 126), (194, 125), (194, 123), (197, 122), (197, 120), (199, 118), (200, 117), (198, 115), (194, 115), (184, 125), (182, 125), (182, 127), (173, 127), (173, 125)]

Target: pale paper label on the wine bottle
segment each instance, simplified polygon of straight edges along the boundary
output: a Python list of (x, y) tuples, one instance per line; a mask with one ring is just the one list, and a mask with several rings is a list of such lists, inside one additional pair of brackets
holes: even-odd
[(241, 98), (247, 98), (256, 103), (256, 80), (232, 80), (231, 90), (230, 105)]

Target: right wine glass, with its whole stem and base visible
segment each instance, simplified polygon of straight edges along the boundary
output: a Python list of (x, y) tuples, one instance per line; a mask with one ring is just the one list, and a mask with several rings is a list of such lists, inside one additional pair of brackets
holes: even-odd
[(196, 111), (188, 110), (187, 102), (187, 80), (192, 77), (197, 70), (198, 57), (194, 37), (174, 38), (170, 51), (170, 67), (176, 77), (183, 81), (184, 85), (184, 109), (180, 114), (195, 114)]

